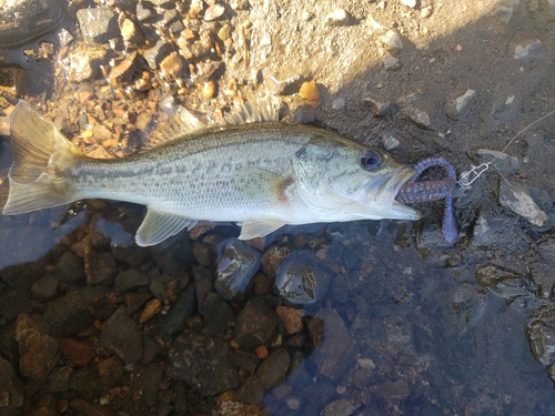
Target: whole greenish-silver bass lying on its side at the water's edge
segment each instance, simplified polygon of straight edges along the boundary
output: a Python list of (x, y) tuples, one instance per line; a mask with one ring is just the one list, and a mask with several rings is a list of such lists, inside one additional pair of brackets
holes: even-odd
[(236, 223), (239, 239), (251, 240), (283, 225), (421, 217), (395, 200), (413, 166), (324, 129), (282, 123), (274, 100), (240, 104), (223, 123), (179, 106), (121, 159), (87, 156), (23, 100), (11, 113), (10, 135), (2, 215), (87, 199), (142, 204), (139, 246), (198, 221)]

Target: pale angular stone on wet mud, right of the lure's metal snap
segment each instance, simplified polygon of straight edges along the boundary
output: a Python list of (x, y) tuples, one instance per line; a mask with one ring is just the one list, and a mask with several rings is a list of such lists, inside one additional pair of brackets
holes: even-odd
[[(532, 225), (543, 226), (547, 220), (547, 213), (532, 197), (533, 192), (536, 194), (536, 200), (546, 193), (519, 182), (500, 181), (500, 204), (524, 217)], [(548, 200), (548, 195), (544, 197)]]

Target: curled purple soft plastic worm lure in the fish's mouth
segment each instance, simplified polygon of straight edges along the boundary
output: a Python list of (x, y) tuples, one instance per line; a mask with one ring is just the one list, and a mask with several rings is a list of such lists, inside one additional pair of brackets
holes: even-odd
[[(416, 180), (432, 166), (441, 166), (447, 172), (447, 177), (438, 181), (416, 182)], [(445, 213), (443, 215), (443, 235), (450, 243), (458, 236), (455, 212), (453, 210), (453, 190), (456, 185), (456, 172), (453, 165), (443, 158), (427, 158), (414, 165), (416, 173), (401, 189), (395, 197), (404, 204), (427, 202), (445, 199)]]

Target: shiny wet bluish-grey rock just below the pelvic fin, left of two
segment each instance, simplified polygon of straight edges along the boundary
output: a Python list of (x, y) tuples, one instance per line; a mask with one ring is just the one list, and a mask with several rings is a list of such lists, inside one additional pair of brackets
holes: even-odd
[(262, 255), (236, 239), (224, 240), (218, 252), (214, 288), (223, 298), (236, 301), (259, 271)]

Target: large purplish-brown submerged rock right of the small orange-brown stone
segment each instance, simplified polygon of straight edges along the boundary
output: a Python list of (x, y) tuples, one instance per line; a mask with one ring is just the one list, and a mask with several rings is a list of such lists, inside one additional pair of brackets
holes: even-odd
[(337, 312), (325, 307), (309, 323), (309, 331), (315, 347), (311, 359), (324, 376), (340, 378), (355, 358), (355, 342), (343, 319)]

